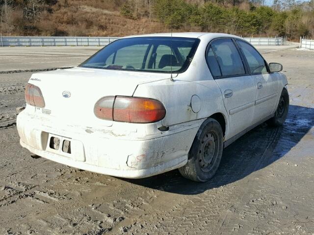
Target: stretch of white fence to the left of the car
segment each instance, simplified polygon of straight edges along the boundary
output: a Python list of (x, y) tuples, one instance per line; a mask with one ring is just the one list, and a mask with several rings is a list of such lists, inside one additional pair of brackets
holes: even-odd
[(1, 37), (1, 47), (106, 46), (113, 37)]

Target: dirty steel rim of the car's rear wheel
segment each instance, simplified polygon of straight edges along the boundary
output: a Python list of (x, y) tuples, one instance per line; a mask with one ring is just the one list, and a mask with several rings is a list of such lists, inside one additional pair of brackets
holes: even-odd
[(198, 163), (202, 171), (209, 172), (214, 166), (218, 146), (217, 133), (211, 130), (204, 135), (198, 152)]

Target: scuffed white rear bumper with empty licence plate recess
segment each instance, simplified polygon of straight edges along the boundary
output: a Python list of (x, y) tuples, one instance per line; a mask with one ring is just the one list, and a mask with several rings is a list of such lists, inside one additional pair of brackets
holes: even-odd
[[(90, 129), (38, 118), (25, 111), (17, 118), (20, 143), (46, 159), (80, 169), (124, 178), (144, 178), (179, 168), (202, 120), (180, 124), (161, 137), (113, 136), (108, 129)], [(112, 128), (112, 127), (110, 127)], [(110, 134), (109, 134), (110, 133)], [(71, 141), (71, 154), (49, 146), (51, 135)], [(160, 136), (160, 135), (159, 135)]]

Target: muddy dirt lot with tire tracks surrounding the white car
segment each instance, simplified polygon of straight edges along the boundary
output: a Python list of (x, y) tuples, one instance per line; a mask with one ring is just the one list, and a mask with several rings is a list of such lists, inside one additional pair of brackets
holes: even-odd
[[(64, 49), (53, 48), (54, 56), (47, 56), (51, 48), (33, 49), (45, 57), (39, 63), (29, 48), (27, 56), (6, 49), (5, 58), (0, 48), (0, 71), (19, 69), (19, 61), (22, 69), (75, 65), (99, 48), (75, 49), (74, 61)], [(0, 234), (314, 235), (314, 51), (260, 51), (284, 65), (288, 119), (280, 128), (262, 124), (226, 148), (216, 176), (203, 184), (177, 170), (126, 180), (30, 158), (15, 109), (25, 104), (31, 73), (0, 74)]]

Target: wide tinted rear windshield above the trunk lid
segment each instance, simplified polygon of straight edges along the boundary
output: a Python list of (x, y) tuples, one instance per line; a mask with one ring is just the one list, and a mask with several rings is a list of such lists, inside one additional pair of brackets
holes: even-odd
[(137, 37), (119, 39), (79, 65), (83, 68), (183, 72), (199, 44), (196, 38)]

